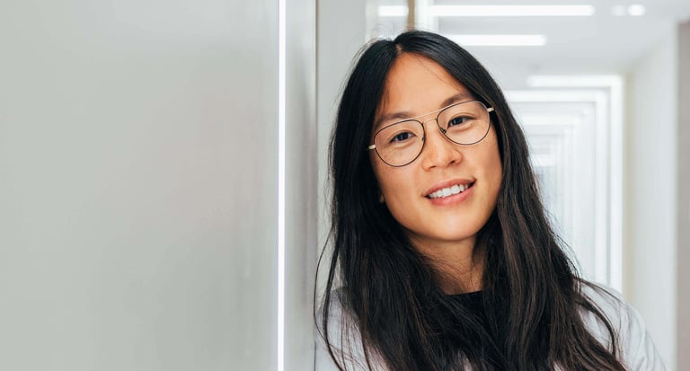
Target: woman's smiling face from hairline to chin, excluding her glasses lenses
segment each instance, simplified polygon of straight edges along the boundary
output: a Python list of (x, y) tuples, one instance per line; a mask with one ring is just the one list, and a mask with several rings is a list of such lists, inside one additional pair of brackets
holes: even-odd
[[(473, 100), (464, 85), (436, 62), (403, 53), (387, 76), (371, 142), (377, 129), (386, 124)], [(434, 252), (457, 243), (472, 248), (477, 232), (496, 207), (499, 194), (501, 161), (496, 132), (491, 125), (481, 142), (457, 145), (441, 134), (434, 120), (436, 115), (419, 118), (422, 122), (430, 120), (424, 123), (424, 148), (412, 163), (392, 167), (375, 151), (370, 151), (370, 160), (385, 205), (418, 249)], [(384, 117), (394, 119), (382, 122)], [(443, 193), (438, 190), (451, 188), (466, 189), (438, 197)]]

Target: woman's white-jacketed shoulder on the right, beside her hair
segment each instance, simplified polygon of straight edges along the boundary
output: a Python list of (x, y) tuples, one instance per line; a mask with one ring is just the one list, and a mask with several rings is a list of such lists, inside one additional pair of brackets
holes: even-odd
[[(628, 370), (666, 370), (641, 314), (625, 302), (621, 293), (611, 287), (589, 282), (582, 285), (581, 293), (611, 325), (617, 338), (620, 358)], [(591, 311), (583, 310), (582, 317), (597, 340), (610, 347), (611, 336), (606, 322)]]

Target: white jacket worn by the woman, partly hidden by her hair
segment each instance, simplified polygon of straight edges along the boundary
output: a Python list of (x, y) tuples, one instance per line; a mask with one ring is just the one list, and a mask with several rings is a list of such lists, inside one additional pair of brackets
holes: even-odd
[[(623, 297), (612, 289), (596, 289), (583, 286), (583, 293), (599, 307), (602, 314), (611, 322), (618, 333), (621, 358), (628, 371), (665, 371), (667, 368), (654, 347), (650, 335), (644, 327), (641, 315), (632, 306), (626, 304)], [(334, 296), (334, 297), (337, 297)], [(341, 334), (341, 317), (343, 310), (337, 299), (333, 300), (329, 314), (329, 337), (336, 350), (336, 356), (344, 361), (348, 370), (367, 370), (361, 340), (355, 327), (347, 334)], [(597, 340), (605, 345), (610, 344), (608, 331), (603, 322), (596, 315), (582, 310), (581, 314), (588, 324), (589, 330)], [(317, 317), (318, 318), (318, 317)], [(316, 371), (337, 371), (328, 354), (325, 342), (317, 333)], [(375, 352), (370, 352), (371, 364), (374, 370), (385, 370), (384, 362), (376, 359)], [(555, 367), (555, 369), (558, 369)]]

